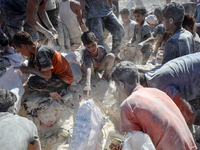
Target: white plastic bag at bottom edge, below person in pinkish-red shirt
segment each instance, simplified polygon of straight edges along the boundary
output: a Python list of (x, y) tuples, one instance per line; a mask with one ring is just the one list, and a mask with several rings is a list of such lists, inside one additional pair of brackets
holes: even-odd
[(150, 137), (140, 131), (126, 134), (122, 150), (155, 150)]

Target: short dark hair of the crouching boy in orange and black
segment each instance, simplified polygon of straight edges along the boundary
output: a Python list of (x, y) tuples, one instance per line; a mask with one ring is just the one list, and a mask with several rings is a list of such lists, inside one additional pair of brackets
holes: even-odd
[(12, 39), (12, 45), (21, 48), (21, 44), (33, 45), (34, 42), (31, 35), (24, 31), (17, 32)]

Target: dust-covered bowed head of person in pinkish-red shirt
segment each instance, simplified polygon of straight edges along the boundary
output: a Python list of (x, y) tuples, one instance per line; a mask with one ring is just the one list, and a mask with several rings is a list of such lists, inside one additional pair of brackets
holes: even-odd
[(117, 90), (128, 97), (139, 84), (138, 69), (133, 62), (122, 61), (113, 68), (111, 79)]

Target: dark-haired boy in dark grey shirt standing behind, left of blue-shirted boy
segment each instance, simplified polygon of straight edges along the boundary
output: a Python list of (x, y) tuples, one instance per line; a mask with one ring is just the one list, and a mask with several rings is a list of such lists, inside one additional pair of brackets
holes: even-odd
[[(145, 7), (138, 6), (135, 8), (133, 14), (135, 16), (135, 21), (138, 23), (135, 25), (135, 31), (131, 43), (136, 45), (136, 51), (141, 50), (143, 54), (142, 64), (145, 65), (149, 59), (152, 51), (151, 44), (143, 44), (143, 41), (151, 37), (151, 28), (145, 21), (145, 15), (147, 11)], [(137, 52), (136, 52), (137, 53)]]

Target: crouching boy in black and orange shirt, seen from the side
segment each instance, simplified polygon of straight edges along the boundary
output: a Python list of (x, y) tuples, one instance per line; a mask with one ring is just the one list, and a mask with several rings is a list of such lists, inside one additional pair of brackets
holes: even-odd
[[(20, 31), (13, 37), (13, 46), (22, 55), (29, 57), (28, 66), (18, 67), (22, 73), (31, 73), (28, 86), (34, 90), (60, 93), (73, 82), (68, 61), (57, 51), (38, 43)], [(60, 97), (60, 95), (58, 95)], [(59, 98), (58, 97), (58, 98)]]

